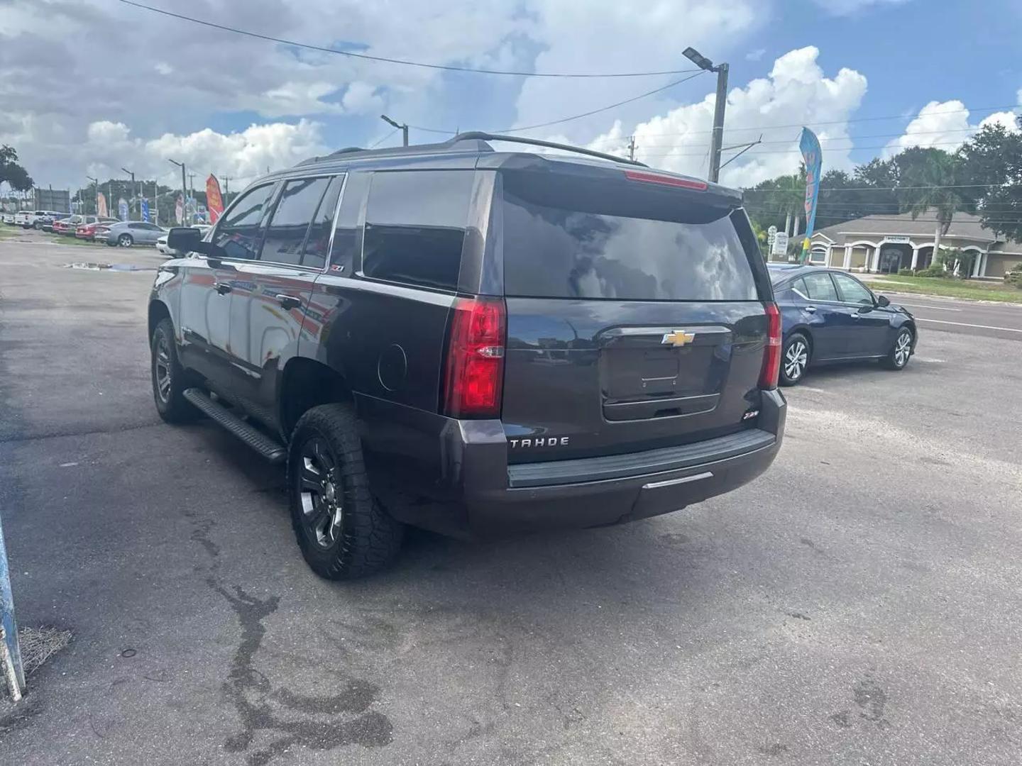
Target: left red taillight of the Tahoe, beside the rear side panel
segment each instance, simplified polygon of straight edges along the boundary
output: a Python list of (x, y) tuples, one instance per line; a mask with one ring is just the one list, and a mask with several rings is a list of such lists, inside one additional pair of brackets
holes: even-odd
[(444, 410), (448, 416), (500, 416), (506, 326), (506, 309), (501, 299), (455, 301), (444, 381)]

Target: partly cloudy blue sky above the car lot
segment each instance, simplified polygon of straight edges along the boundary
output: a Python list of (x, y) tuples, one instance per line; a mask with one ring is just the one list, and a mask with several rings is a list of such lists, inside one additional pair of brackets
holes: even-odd
[[(954, 149), (983, 118), (1011, 122), (1022, 89), (1019, 0), (148, 2), (314, 45), (344, 41), (376, 55), (493, 68), (688, 68), (680, 51), (693, 45), (731, 64), (726, 143), (759, 133), (741, 128), (763, 132), (764, 143), (727, 169), (724, 180), (738, 186), (793, 170), (797, 126), (816, 127), (825, 166), (847, 170), (914, 144)], [(413, 126), (495, 130), (668, 82), (411, 69), (230, 35), (118, 0), (0, 0), (0, 142), (55, 186), (121, 165), (170, 184), (170, 157), (244, 183), (310, 154), (397, 143), (381, 112)], [(525, 135), (613, 152), (635, 135), (650, 164), (705, 175), (713, 85), (703, 75)], [(412, 131), (413, 142), (438, 138)]]

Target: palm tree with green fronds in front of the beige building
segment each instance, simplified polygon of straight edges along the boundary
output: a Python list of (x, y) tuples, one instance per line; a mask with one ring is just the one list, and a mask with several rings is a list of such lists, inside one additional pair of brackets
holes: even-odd
[(941, 149), (916, 146), (894, 157), (898, 170), (895, 190), (901, 212), (915, 221), (927, 211), (936, 213), (933, 234), (933, 261), (940, 252), (940, 238), (950, 229), (955, 213), (973, 208), (963, 189), (955, 188), (962, 178), (962, 161)]

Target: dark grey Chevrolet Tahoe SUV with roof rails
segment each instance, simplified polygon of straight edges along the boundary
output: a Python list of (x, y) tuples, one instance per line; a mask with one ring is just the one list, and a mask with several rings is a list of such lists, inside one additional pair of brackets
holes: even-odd
[[(248, 187), (157, 269), (156, 410), (288, 465), (319, 575), (403, 525), (592, 527), (773, 462), (781, 324), (741, 195), (610, 155), (337, 152)], [(537, 142), (531, 142), (537, 143)]]

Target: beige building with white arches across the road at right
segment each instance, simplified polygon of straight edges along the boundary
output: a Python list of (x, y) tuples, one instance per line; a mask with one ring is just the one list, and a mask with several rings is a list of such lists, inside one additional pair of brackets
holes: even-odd
[[(810, 238), (809, 261), (852, 272), (894, 274), (899, 269), (925, 269), (933, 260), (936, 231), (933, 216), (867, 216), (816, 232)], [(973, 277), (1002, 279), (1022, 264), (1022, 242), (998, 238), (979, 224), (977, 216), (955, 214), (941, 247), (973, 250), (978, 257)]]

